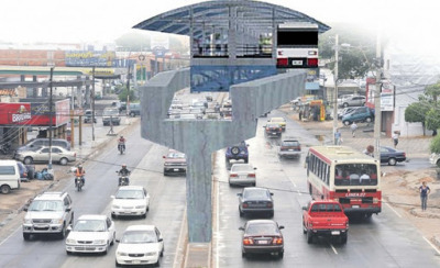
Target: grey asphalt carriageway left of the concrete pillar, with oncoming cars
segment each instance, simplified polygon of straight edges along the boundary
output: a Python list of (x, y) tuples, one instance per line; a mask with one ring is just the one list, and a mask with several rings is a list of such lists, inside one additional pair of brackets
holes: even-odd
[[(118, 188), (116, 170), (125, 163), (132, 170), (131, 185), (141, 185), (150, 192), (150, 212), (146, 219), (114, 220), (117, 238), (133, 224), (155, 224), (163, 233), (164, 267), (172, 267), (185, 212), (185, 177), (163, 177), (163, 158), (167, 149), (140, 137), (139, 127), (125, 135), (127, 155), (119, 155), (116, 144), (110, 143), (94, 160), (85, 164), (87, 171), (84, 191), (76, 192), (73, 180), (64, 190), (74, 201), (75, 219), (81, 214), (110, 215), (110, 196)], [(0, 267), (114, 267), (116, 246), (106, 256), (67, 256), (65, 241), (36, 237), (31, 242), (22, 238), (21, 226), (0, 244)]]

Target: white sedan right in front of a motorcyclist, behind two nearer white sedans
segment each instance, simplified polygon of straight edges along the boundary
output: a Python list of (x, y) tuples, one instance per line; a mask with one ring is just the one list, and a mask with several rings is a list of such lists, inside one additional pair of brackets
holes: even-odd
[(111, 203), (111, 217), (146, 216), (150, 210), (150, 194), (142, 186), (122, 186)]

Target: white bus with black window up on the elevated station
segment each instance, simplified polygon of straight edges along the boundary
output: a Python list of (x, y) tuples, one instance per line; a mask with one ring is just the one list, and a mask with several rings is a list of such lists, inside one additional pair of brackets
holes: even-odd
[(286, 22), (276, 31), (277, 68), (318, 68), (318, 24)]

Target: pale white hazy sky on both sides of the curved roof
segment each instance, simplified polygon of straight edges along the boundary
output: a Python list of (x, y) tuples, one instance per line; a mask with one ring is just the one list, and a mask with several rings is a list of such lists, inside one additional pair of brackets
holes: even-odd
[[(139, 22), (195, 0), (2, 0), (0, 41), (111, 42)], [(267, 0), (331, 26), (383, 29), (389, 36), (439, 49), (439, 0)], [(432, 45), (436, 44), (436, 45)]]

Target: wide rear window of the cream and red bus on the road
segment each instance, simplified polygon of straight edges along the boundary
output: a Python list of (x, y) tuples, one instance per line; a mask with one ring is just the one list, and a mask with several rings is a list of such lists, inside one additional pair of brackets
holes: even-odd
[(334, 186), (377, 186), (377, 166), (373, 164), (337, 165)]

